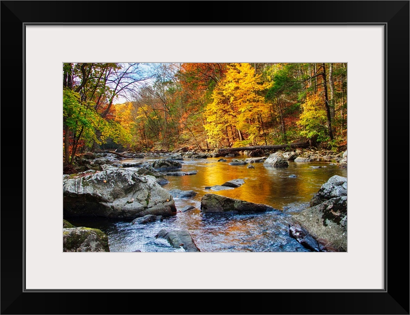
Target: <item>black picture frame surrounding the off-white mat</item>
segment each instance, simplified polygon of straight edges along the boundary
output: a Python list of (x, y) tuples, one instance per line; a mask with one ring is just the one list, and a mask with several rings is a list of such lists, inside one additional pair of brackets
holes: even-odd
[[(1, 314), (409, 314), (409, 181), (408, 173), (403, 174), (403, 167), (408, 170), (408, 162), (401, 161), (409, 157), (409, 3), (408, 0), (1, 1)], [(118, 12), (110, 14), (110, 7)], [(24, 237), (29, 237), (23, 224), (27, 189), (24, 186), (24, 30), (27, 24), (63, 23), (384, 25), (387, 39), (384, 289), (27, 292), (23, 277)], [(42, 66), (46, 65), (39, 65), (39, 71)], [(38, 82), (45, 96), (48, 79)], [(366, 139), (363, 141), (365, 145)], [(367, 158), (371, 158), (371, 150)], [(16, 157), (22, 158), (21, 162)], [(39, 252), (47, 250), (46, 245), (38, 246)], [(69, 271), (66, 272), (69, 276)], [(318, 275), (321, 276), (324, 275)], [(157, 300), (151, 302), (152, 298)]]

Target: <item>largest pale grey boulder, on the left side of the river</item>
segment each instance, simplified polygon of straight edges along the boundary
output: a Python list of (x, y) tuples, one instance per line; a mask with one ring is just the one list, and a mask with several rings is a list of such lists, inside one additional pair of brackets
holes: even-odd
[(171, 216), (175, 203), (155, 177), (130, 169), (107, 169), (63, 179), (64, 216), (135, 219), (148, 214)]

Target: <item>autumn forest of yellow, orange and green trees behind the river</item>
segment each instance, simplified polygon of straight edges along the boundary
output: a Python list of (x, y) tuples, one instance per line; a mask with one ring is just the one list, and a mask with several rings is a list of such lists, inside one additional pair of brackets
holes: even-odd
[(346, 63), (64, 63), (63, 159), (347, 144)]

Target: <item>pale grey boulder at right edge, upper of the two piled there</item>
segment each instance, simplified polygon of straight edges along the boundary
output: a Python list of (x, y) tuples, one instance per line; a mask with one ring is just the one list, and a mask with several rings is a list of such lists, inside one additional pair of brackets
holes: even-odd
[(334, 175), (322, 185), (310, 200), (310, 207), (314, 207), (326, 200), (347, 196), (347, 177)]

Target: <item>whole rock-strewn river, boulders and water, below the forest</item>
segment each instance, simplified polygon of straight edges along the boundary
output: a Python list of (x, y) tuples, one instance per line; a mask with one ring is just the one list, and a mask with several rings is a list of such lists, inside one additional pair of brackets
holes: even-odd
[[(219, 152), (128, 155), (123, 158), (110, 153), (88, 153), (76, 164), (81, 172), (71, 170), (63, 175), (64, 218), (68, 224), (71, 220), (92, 225), (66, 225), (64, 251), (347, 251), (347, 178), (335, 175), (346, 174), (347, 152), (262, 151), (258, 157), (255, 153), (249, 157), (249, 153), (226, 152), (222, 158)], [(205, 176), (201, 174), (205, 169), (222, 169), (226, 173), (216, 171)], [(256, 172), (248, 173), (251, 171)], [(229, 178), (230, 173), (252, 177)], [(313, 176), (313, 187), (318, 187), (319, 182), (321, 185), (315, 193), (308, 193), (311, 200), (307, 200), (304, 191), (307, 183), (301, 185), (304, 177), (308, 181), (308, 173)], [(186, 181), (187, 176), (202, 178), (203, 185)], [(218, 177), (219, 183), (207, 185), (208, 180)], [(226, 177), (228, 180), (222, 180)], [(272, 187), (287, 187), (278, 198), (280, 204), (272, 199), (277, 192), (265, 187), (271, 178)], [(278, 180), (280, 183), (276, 183)], [(258, 185), (262, 189), (259, 198), (255, 191)], [(298, 199), (298, 187), (304, 201), (287, 203), (290, 197)], [(258, 200), (266, 200), (266, 204)], [(100, 224), (93, 218), (106, 221)], [(99, 225), (101, 229), (96, 228)], [(248, 230), (242, 229), (246, 225)], [(116, 226), (115, 232), (112, 226)], [(234, 226), (238, 233), (226, 230)], [(124, 243), (119, 244), (120, 230), (124, 228), (124, 240), (119, 241)], [(204, 228), (210, 230), (206, 232)], [(218, 228), (228, 238), (242, 238), (243, 244), (238, 239), (232, 240), (233, 245), (224, 244), (227, 240), (217, 235)], [(212, 239), (209, 233), (217, 235), (213, 240), (220, 245), (208, 244)], [(152, 248), (148, 248), (149, 243), (154, 244)], [(252, 245), (255, 243), (258, 245)]]

